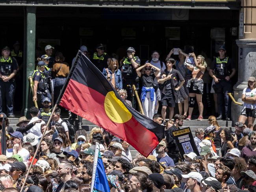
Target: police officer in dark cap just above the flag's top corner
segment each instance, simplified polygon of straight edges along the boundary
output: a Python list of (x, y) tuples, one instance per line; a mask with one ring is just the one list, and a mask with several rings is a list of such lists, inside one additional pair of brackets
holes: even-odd
[(103, 44), (98, 44), (96, 50), (97, 52), (93, 53), (91, 62), (102, 72), (104, 68), (108, 67), (108, 59), (110, 57), (104, 52), (105, 47)]

